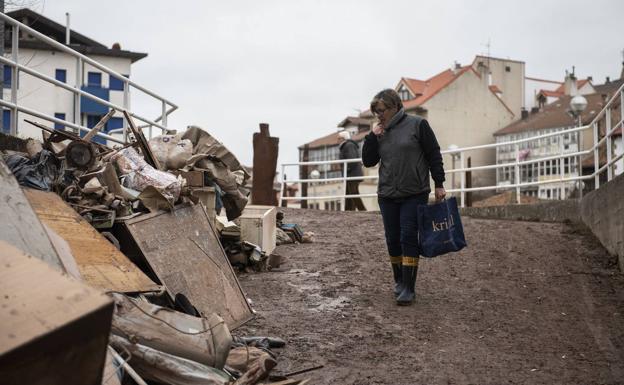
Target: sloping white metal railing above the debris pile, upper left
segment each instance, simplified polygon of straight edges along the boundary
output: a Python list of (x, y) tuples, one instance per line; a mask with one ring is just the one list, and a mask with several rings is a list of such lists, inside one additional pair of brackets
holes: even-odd
[[(54, 123), (58, 123), (58, 124), (62, 124), (65, 125), (67, 127), (71, 127), (74, 130), (76, 130), (77, 132), (79, 131), (89, 131), (90, 128), (85, 127), (82, 125), (82, 114), (80, 111), (80, 98), (81, 97), (85, 97), (85, 98), (89, 98), (97, 103), (100, 103), (102, 105), (105, 105), (109, 108), (112, 108), (116, 111), (128, 111), (128, 113), (130, 114), (130, 116), (132, 116), (133, 118), (145, 123), (145, 125), (141, 126), (141, 128), (144, 127), (149, 127), (149, 137), (152, 136), (152, 127), (157, 127), (159, 129), (162, 130), (162, 132), (165, 132), (167, 130), (167, 116), (169, 114), (171, 114), (173, 111), (175, 111), (178, 106), (175, 105), (173, 102), (165, 99), (164, 97), (156, 94), (153, 91), (150, 91), (149, 89), (137, 84), (136, 82), (128, 79), (127, 77), (125, 77), (124, 75), (118, 73), (115, 70), (110, 69), (109, 67), (79, 53), (76, 52), (75, 50), (69, 48), (67, 45), (64, 45), (62, 43), (59, 43), (56, 40), (53, 40), (51, 38), (49, 38), (48, 36), (43, 35), (42, 33), (28, 27), (25, 24), (20, 23), (19, 21), (7, 16), (4, 13), (0, 13), (0, 19), (4, 20), (5, 23), (11, 25), (11, 55), (10, 55), (10, 59), (7, 57), (2, 57), (0, 56), (0, 63), (10, 66), (11, 67), (11, 91), (10, 91), (10, 102), (4, 100), (4, 98), (0, 99), (0, 106), (8, 108), (11, 110), (11, 122), (10, 122), (10, 133), (11, 135), (17, 135), (18, 134), (18, 114), (20, 112), (29, 114), (29, 115), (33, 115), (36, 116), (40, 119), (45, 119), (47, 121), (50, 122), (54, 122)], [(24, 65), (19, 63), (19, 33), (20, 31), (23, 31), (25, 33), (28, 33), (30, 36), (32, 36), (33, 38), (47, 44), (48, 46), (50, 46), (50, 48), (53, 48), (55, 50), (64, 52), (74, 58), (76, 58), (76, 79), (73, 85), (69, 85), (67, 83), (61, 82), (56, 80), (55, 78), (52, 78), (46, 74), (43, 74), (31, 67), (29, 67), (28, 65)], [(115, 78), (119, 79), (122, 83), (123, 83), (123, 105), (117, 105), (114, 103), (111, 103), (108, 100), (104, 100), (101, 99), (95, 95), (92, 95), (86, 91), (83, 91), (81, 89), (81, 87), (84, 85), (84, 66), (85, 64), (89, 64), (107, 74), (109, 74), (110, 76), (114, 76)], [(19, 79), (19, 73), (20, 72), (24, 72), (26, 74), (29, 74), (35, 78), (38, 78), (39, 80), (46, 82), (46, 83), (50, 83), (53, 84), (57, 87), (63, 88), (69, 92), (71, 92), (74, 95), (73, 98), (73, 104), (74, 104), (74, 117), (73, 117), (73, 121), (67, 121), (64, 119), (59, 119), (56, 118), (54, 116), (50, 116), (47, 114), (44, 114), (40, 111), (37, 111), (33, 108), (28, 108), (26, 106), (20, 105), (18, 103), (18, 96), (19, 96), (19, 90), (18, 90), (18, 79)], [(160, 104), (161, 106), (161, 115), (154, 119), (154, 120), (150, 120), (147, 119), (141, 115), (138, 115), (134, 112), (130, 111), (130, 87), (148, 95), (151, 96), (153, 99), (156, 99), (156, 101)], [(4, 92), (4, 90), (2, 91)], [(158, 121), (162, 122), (161, 123), (157, 123)], [(104, 139), (107, 140), (111, 140), (117, 143), (125, 143), (127, 141), (127, 133), (128, 133), (128, 122), (126, 121), (126, 119), (124, 118), (123, 121), (123, 128), (120, 129), (115, 129), (115, 130), (111, 130), (110, 133), (119, 133), (121, 132), (123, 134), (122, 139), (118, 139), (116, 137), (113, 137), (111, 135), (107, 135), (104, 133), (98, 133), (97, 136), (102, 137)]]

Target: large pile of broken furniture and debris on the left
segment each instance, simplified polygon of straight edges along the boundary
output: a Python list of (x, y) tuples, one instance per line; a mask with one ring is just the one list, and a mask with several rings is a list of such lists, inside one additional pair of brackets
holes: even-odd
[(209, 133), (147, 141), (124, 113), (124, 146), (92, 141), (111, 112), (84, 137), (30, 122), (43, 143), (3, 151), (3, 377), (305, 383), (271, 372), (284, 341), (230, 334), (254, 314), (232, 266), (279, 267), (276, 232), (305, 234), (275, 207), (247, 206), (249, 174)]

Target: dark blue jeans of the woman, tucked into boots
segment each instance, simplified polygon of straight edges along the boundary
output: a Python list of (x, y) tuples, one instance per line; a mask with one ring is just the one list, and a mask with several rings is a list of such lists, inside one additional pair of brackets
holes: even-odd
[(418, 257), (418, 217), (416, 208), (426, 205), (429, 193), (407, 198), (379, 198), (379, 208), (386, 231), (386, 244), (391, 257)]

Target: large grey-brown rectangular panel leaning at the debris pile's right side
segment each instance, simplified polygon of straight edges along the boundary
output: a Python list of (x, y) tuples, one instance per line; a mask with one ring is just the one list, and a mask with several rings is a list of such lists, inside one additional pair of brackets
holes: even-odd
[(220, 315), (230, 329), (252, 318), (251, 307), (201, 205), (143, 215), (125, 225), (172, 297), (184, 294), (201, 313)]

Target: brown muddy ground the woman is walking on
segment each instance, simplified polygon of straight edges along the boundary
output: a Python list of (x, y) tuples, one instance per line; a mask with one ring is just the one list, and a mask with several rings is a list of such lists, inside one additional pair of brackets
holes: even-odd
[[(311, 244), (243, 274), (273, 335), (276, 372), (312, 384), (624, 384), (624, 276), (585, 230), (464, 218), (469, 247), (422, 260), (417, 301), (395, 305), (378, 213), (285, 210)], [(298, 378), (299, 378), (298, 377)]]

